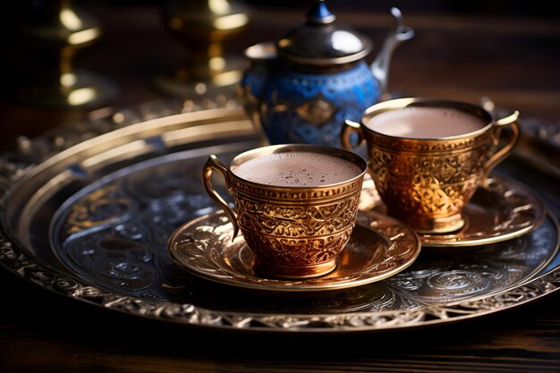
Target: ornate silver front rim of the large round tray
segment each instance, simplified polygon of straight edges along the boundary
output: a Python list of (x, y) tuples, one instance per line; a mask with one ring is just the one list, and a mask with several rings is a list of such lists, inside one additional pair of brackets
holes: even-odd
[[(86, 301), (104, 308), (115, 309), (144, 318), (170, 320), (185, 325), (208, 326), (212, 328), (235, 328), (261, 330), (269, 332), (310, 331), (360, 331), (395, 329), (407, 326), (430, 325), (484, 315), (496, 310), (509, 309), (522, 303), (532, 301), (550, 292), (560, 289), (560, 270), (540, 276), (529, 284), (496, 295), (462, 301), (455, 305), (425, 307), (412, 310), (388, 310), (377, 312), (355, 312), (338, 315), (282, 315), (232, 313), (201, 309), (193, 304), (143, 301), (138, 298), (106, 292), (95, 286), (81, 284), (68, 276), (47, 270), (48, 280), (41, 274), (45, 268), (30, 266), (32, 260), (17, 250), (6, 250), (11, 245), (0, 240), (0, 260), (5, 265), (12, 263), (16, 273), (25, 274), (26, 278), (41, 278), (41, 286), (49, 287), (55, 292)], [(7, 258), (8, 257), (8, 258)], [(13, 258), (18, 258), (13, 260)], [(8, 259), (6, 261), (6, 259)], [(11, 260), (12, 259), (12, 260)], [(52, 286), (53, 284), (72, 284), (72, 286)]]

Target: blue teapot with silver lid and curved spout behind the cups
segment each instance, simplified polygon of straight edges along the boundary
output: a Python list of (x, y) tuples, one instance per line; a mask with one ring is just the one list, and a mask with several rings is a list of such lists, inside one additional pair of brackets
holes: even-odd
[(307, 20), (276, 42), (248, 47), (250, 67), (240, 87), (245, 109), (264, 144), (312, 143), (340, 147), (344, 120), (360, 121), (363, 111), (386, 92), (391, 55), (414, 31), (392, 8), (395, 27), (375, 61), (369, 38), (336, 21), (325, 1)]

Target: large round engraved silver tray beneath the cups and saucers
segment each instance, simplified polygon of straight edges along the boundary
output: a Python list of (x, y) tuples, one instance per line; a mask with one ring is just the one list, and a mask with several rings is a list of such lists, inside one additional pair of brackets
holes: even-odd
[(164, 102), (100, 114), (4, 154), (2, 266), (92, 306), (182, 326), (268, 333), (445, 324), (560, 288), (558, 181), (515, 159), (495, 173), (524, 182), (548, 209), (520, 237), (452, 253), (421, 250), (397, 275), (344, 290), (260, 292), (192, 276), (174, 265), (167, 240), (216, 210), (200, 182), (203, 162), (259, 143), (242, 107), (211, 106)]

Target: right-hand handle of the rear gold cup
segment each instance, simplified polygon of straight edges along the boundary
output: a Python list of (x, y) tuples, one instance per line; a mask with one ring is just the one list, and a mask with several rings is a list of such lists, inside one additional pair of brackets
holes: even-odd
[(492, 155), (484, 165), (484, 174), (482, 175), (482, 179), (480, 181), (480, 186), (482, 188), (488, 188), (488, 175), (490, 172), (498, 165), (500, 162), (505, 160), (506, 157), (512, 152), (515, 143), (519, 139), (519, 111), (515, 110), (513, 114), (505, 116), (504, 118), (497, 119), (494, 122), (494, 126), (492, 128), (492, 143), (493, 145), (497, 146), (500, 140), (500, 134), (502, 130), (509, 126), (512, 129), (511, 138), (507, 141), (507, 144), (503, 148)]

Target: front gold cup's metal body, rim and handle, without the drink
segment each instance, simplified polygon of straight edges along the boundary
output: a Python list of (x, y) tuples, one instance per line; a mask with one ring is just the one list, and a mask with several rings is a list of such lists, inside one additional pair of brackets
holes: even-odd
[[(255, 157), (294, 151), (340, 157), (358, 165), (361, 174), (326, 186), (274, 186), (250, 182), (235, 174), (235, 167)], [(350, 239), (358, 214), (366, 161), (347, 150), (320, 145), (286, 144), (255, 148), (224, 165), (208, 157), (203, 182), (212, 199), (233, 224), (233, 238), (241, 230), (255, 254), (257, 272), (275, 277), (305, 278), (335, 269), (336, 257)], [(235, 210), (211, 183), (214, 171), (223, 174), (233, 192)]]

